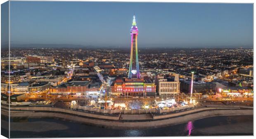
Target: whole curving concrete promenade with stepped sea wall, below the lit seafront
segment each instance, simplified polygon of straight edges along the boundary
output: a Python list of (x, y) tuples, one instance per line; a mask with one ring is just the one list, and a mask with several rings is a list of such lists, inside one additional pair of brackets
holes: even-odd
[[(2, 115), (8, 115), (8, 107), (1, 106)], [(236, 107), (200, 107), (168, 114), (99, 115), (52, 107), (11, 107), (12, 118), (60, 118), (77, 123), (114, 129), (145, 129), (177, 125), (188, 121), (227, 115), (253, 115), (253, 109)]]

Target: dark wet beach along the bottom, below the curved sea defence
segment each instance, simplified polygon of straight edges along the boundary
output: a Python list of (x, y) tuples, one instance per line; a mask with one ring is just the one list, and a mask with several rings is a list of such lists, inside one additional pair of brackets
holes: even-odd
[[(154, 129), (121, 130), (94, 127), (58, 118), (14, 118), (12, 138), (20, 137), (159, 137), (187, 136), (187, 125), (173, 125)], [(214, 122), (213, 122), (214, 121)], [(191, 136), (253, 135), (253, 116), (217, 116), (189, 122)], [(2, 120), (3, 122), (3, 120)], [(47, 126), (45, 126), (47, 125)], [(49, 127), (51, 126), (51, 127)], [(2, 130), (3, 127), (2, 127)], [(100, 131), (100, 132), (99, 132)]]

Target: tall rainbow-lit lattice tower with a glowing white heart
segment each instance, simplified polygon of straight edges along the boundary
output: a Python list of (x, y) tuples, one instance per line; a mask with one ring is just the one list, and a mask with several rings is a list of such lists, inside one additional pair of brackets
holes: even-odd
[(133, 16), (133, 26), (130, 29), (131, 47), (130, 47), (130, 66), (128, 78), (140, 78), (138, 49), (137, 49), (137, 36), (139, 30), (136, 26), (135, 15)]

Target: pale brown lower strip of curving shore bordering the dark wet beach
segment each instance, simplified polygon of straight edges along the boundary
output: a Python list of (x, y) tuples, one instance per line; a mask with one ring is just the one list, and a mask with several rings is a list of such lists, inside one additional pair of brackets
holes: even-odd
[[(192, 111), (197, 111), (192, 113)], [(173, 113), (164, 116), (163, 118), (152, 120), (107, 120), (107, 119), (95, 119), (88, 118), (83, 115), (71, 115), (69, 113), (57, 112), (57, 111), (10, 111), (11, 118), (60, 118), (64, 120), (73, 121), (76, 123), (82, 123), (86, 125), (92, 125), (102, 128), (110, 129), (150, 129), (158, 127), (166, 127), (171, 125), (178, 125), (186, 123), (188, 121), (199, 120), (203, 118), (215, 117), (215, 116), (232, 116), (232, 115), (253, 115), (253, 109), (213, 109), (213, 108), (201, 108), (190, 111), (183, 111), (180, 113)], [(82, 112), (81, 112), (82, 113)], [(186, 113), (184, 115), (184, 113)], [(7, 116), (8, 111), (2, 111), (2, 115)], [(138, 116), (138, 115), (132, 115)], [(166, 117), (169, 116), (169, 117)]]

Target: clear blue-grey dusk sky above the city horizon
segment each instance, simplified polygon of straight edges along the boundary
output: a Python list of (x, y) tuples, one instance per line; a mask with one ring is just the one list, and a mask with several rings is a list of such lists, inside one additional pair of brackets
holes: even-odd
[(13, 44), (129, 47), (252, 47), (252, 4), (10, 2)]

